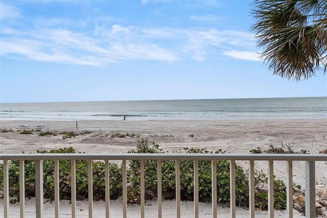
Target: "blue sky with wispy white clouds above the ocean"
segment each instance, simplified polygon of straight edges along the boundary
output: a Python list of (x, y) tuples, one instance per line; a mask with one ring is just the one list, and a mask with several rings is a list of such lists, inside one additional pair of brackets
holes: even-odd
[(272, 75), (251, 3), (2, 0), (0, 102), (327, 96)]

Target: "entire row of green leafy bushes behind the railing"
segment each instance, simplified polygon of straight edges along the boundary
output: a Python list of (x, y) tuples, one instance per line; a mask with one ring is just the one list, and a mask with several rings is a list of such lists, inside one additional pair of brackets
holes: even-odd
[[(222, 150), (209, 152), (206, 149), (185, 148), (180, 152), (192, 153), (216, 153), (223, 154)], [(57, 149), (51, 151), (37, 151), (37, 153), (75, 153), (70, 148)], [(166, 153), (159, 149), (159, 145), (154, 142), (148, 142), (148, 139), (138, 140), (136, 149), (129, 153)], [(212, 173), (211, 161), (199, 161), (199, 201), (211, 201), (212, 189)], [(217, 201), (219, 203), (229, 202), (229, 161), (217, 161)], [(105, 164), (102, 161), (94, 161), (93, 165), (93, 185), (94, 200), (105, 200)], [(130, 203), (139, 203), (141, 199), (141, 183), (140, 183), (140, 162), (131, 160), (127, 166), (127, 197)], [(161, 161), (161, 182), (162, 197), (164, 199), (175, 198), (175, 166), (174, 160)], [(79, 200), (88, 195), (88, 179), (87, 179), (87, 160), (76, 160), (76, 184), (77, 197)], [(194, 163), (190, 160), (180, 161), (180, 198), (184, 201), (193, 200), (193, 167)], [(70, 160), (59, 161), (59, 188), (60, 199), (71, 199), (71, 162)], [(110, 199), (118, 199), (122, 197), (122, 166), (109, 163), (110, 171)], [(248, 173), (241, 166), (235, 166), (236, 173), (236, 203), (238, 206), (248, 206)], [(54, 161), (43, 161), (44, 175), (44, 198), (54, 198)], [(0, 189), (3, 189), (3, 164), (0, 164)], [(255, 174), (255, 199), (256, 207), (263, 210), (267, 209), (267, 176), (260, 172)], [(19, 201), (19, 161), (11, 161), (9, 163), (9, 183), (11, 203)], [(35, 196), (35, 161), (25, 161), (25, 188), (26, 196)], [(157, 161), (145, 160), (145, 198), (152, 199), (157, 195)], [(286, 185), (281, 180), (274, 179), (274, 197), (275, 208), (286, 208)]]

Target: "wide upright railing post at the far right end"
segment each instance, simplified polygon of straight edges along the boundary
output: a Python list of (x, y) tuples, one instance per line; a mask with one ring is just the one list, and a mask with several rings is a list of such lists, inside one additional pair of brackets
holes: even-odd
[(306, 161), (306, 217), (316, 216), (315, 161)]

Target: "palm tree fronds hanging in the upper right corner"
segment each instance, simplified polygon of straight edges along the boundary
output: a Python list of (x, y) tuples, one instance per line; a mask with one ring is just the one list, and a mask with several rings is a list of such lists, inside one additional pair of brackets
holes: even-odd
[(269, 70), (307, 80), (327, 68), (327, 0), (255, 0), (251, 26)]

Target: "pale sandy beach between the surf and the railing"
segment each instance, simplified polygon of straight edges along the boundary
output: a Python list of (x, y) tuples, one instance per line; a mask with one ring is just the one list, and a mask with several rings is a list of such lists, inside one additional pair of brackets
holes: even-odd
[[(42, 125), (42, 131), (57, 133), (55, 136), (38, 136), (33, 134), (19, 134), (24, 129), (35, 130), (36, 125)], [(24, 126), (24, 127), (22, 127)], [(34, 153), (36, 150), (52, 150), (64, 147), (73, 147), (76, 152), (86, 153), (125, 153), (135, 149), (139, 138), (148, 138), (159, 144), (164, 151), (179, 151), (182, 148), (207, 148), (209, 151), (222, 149), (226, 153), (250, 153), (252, 149), (260, 147), (268, 150), (273, 144), (289, 144), (295, 152), (307, 150), (310, 154), (319, 154), (327, 149), (327, 120), (326, 119), (281, 119), (281, 120), (149, 120), (149, 121), (1, 121), (1, 129), (13, 130), (0, 133), (0, 153)], [(73, 138), (63, 139), (62, 132), (74, 131), (84, 133)], [(135, 137), (111, 137), (112, 135), (129, 134)], [(137, 137), (136, 137), (137, 136)], [(238, 162), (247, 167), (248, 163)], [(327, 186), (327, 161), (316, 162), (316, 183)], [(267, 168), (265, 161), (256, 161), (258, 169)], [(286, 163), (274, 162), (274, 174), (285, 180)], [(293, 163), (294, 183), (304, 187), (304, 162)], [(174, 202), (166, 202), (167, 206), (174, 207)], [(188, 202), (189, 203), (189, 202)], [(185, 202), (185, 205), (188, 204)], [(95, 204), (101, 204), (97, 202)], [(102, 203), (103, 204), (103, 203)], [(192, 203), (193, 204), (193, 203)], [(113, 204), (114, 205), (114, 204)], [(153, 208), (147, 209), (147, 216), (155, 217), (155, 203), (149, 203)], [(170, 205), (170, 206), (169, 206)], [(15, 207), (15, 205), (13, 206)], [(189, 206), (185, 206), (189, 207)], [(203, 206), (210, 208), (211, 205)], [(133, 206), (129, 206), (133, 208)], [(87, 208), (85, 208), (87, 210)], [(133, 209), (131, 209), (133, 210)], [(154, 211), (151, 214), (149, 211)], [(163, 209), (165, 210), (165, 209)], [(172, 209), (169, 209), (170, 212)], [(190, 209), (185, 209), (185, 211)], [(210, 211), (210, 209), (208, 210)], [(226, 210), (224, 210), (226, 211)], [(85, 212), (85, 211), (84, 211)], [(228, 212), (228, 211), (227, 211)], [(240, 216), (248, 216), (248, 210), (239, 208)], [(276, 211), (284, 213), (286, 211)], [(205, 211), (201, 217), (205, 216)], [(258, 217), (265, 211), (258, 211)], [(188, 212), (183, 213), (188, 217)], [(294, 212), (295, 217), (297, 211)], [(229, 217), (229, 213), (226, 216)], [(283, 214), (281, 214), (283, 216)], [(63, 216), (65, 217), (65, 216)], [(84, 216), (81, 216), (84, 217)], [(102, 216), (99, 216), (102, 217)], [(120, 217), (113, 216), (113, 217)], [(135, 214), (133, 215), (135, 216)], [(169, 217), (169, 216), (167, 216)]]

